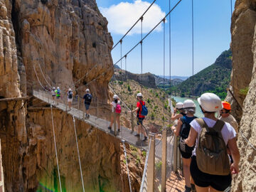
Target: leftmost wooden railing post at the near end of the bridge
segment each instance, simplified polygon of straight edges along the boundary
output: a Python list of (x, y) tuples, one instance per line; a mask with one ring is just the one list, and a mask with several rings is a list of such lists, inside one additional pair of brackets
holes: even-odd
[(155, 135), (150, 134), (149, 137), (151, 137), (151, 145), (149, 149), (149, 165), (147, 170), (147, 178), (148, 178), (148, 191), (153, 192), (154, 191), (154, 172), (155, 172)]

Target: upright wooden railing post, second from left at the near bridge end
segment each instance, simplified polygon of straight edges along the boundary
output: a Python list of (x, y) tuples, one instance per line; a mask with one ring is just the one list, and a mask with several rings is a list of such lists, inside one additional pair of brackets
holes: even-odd
[(167, 130), (162, 132), (162, 166), (161, 166), (161, 192), (166, 191), (166, 149), (167, 149)]

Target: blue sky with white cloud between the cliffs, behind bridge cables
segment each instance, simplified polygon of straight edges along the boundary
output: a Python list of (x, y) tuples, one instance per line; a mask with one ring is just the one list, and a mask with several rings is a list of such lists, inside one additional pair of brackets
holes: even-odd
[[(109, 21), (114, 44), (123, 36), (153, 0), (96, 0), (103, 16)], [(173, 7), (178, 0), (171, 0)], [(230, 47), (230, 0), (194, 0), (194, 73), (214, 63)], [(169, 0), (156, 0), (156, 5), (144, 16), (143, 36), (169, 12)], [(233, 0), (233, 6), (235, 0)], [(182, 0), (171, 12), (171, 75), (192, 75), (191, 0)], [(122, 54), (139, 42), (136, 26), (122, 43)], [(143, 73), (164, 73), (164, 28), (159, 26), (143, 43)], [(120, 46), (112, 50), (115, 63), (120, 58)], [(166, 68), (169, 75), (169, 17), (166, 22)], [(121, 63), (118, 63), (120, 66)], [(127, 70), (141, 73), (140, 46), (127, 55)], [(122, 60), (124, 69), (124, 60)]]

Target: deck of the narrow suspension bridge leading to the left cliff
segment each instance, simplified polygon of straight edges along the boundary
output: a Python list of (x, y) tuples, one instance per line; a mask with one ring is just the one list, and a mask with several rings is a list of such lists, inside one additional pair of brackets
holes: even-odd
[[(136, 146), (139, 149), (146, 150), (148, 148), (148, 142), (139, 141), (139, 137), (135, 137), (134, 134), (132, 133), (132, 130), (127, 129), (127, 127), (121, 127), (122, 131), (117, 132), (117, 136), (115, 136), (113, 131), (114, 126), (112, 126), (112, 130), (107, 129), (107, 127), (110, 125), (110, 122), (105, 119), (100, 119), (93, 115), (90, 115), (90, 119), (84, 119), (83, 112), (81, 110), (75, 109), (73, 107), (71, 108), (71, 110), (67, 110), (68, 109), (67, 105), (61, 102), (59, 102), (58, 105), (55, 105), (55, 102), (50, 98), (50, 95), (48, 95), (49, 97), (46, 97), (46, 95), (41, 94), (40, 92), (34, 90), (33, 96), (48, 104), (53, 104), (53, 106), (58, 108), (59, 110), (63, 110), (64, 112), (67, 112), (68, 114), (74, 116), (75, 118), (80, 119), (81, 121), (84, 121), (87, 124), (92, 125), (92, 127), (100, 129), (102, 132), (110, 134), (111, 136), (116, 137), (121, 141), (124, 140), (124, 142), (127, 142), (128, 144), (132, 144), (133, 146)], [(159, 154), (159, 156), (161, 155)]]

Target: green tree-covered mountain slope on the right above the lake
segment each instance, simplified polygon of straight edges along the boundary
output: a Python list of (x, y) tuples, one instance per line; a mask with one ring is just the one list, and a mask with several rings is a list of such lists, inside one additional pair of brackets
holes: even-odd
[(215, 60), (215, 63), (181, 82), (180, 85), (175, 87), (174, 92), (181, 96), (199, 96), (203, 92), (214, 92), (224, 99), (226, 88), (230, 84), (231, 59), (231, 50), (225, 50)]

